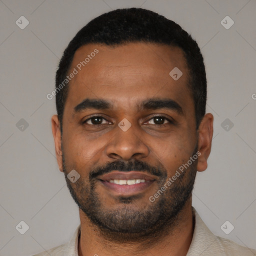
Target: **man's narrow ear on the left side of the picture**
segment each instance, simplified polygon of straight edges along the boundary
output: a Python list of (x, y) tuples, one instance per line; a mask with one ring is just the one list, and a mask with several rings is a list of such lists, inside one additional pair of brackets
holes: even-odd
[(51, 130), (54, 138), (55, 153), (58, 163), (58, 168), (63, 171), (62, 166), (62, 150), (61, 150), (61, 131), (58, 116), (56, 114), (51, 117)]

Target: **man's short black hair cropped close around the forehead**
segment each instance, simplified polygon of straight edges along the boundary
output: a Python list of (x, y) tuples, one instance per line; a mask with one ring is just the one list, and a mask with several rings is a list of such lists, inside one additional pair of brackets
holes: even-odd
[[(206, 104), (206, 74), (202, 54), (196, 41), (180, 25), (151, 10), (115, 9), (88, 22), (64, 50), (56, 71), (55, 87), (66, 78), (74, 53), (82, 45), (100, 43), (115, 46), (128, 42), (167, 44), (183, 50), (189, 71), (187, 83), (193, 97), (197, 129), (205, 114)], [(61, 131), (67, 92), (68, 84), (56, 93)]]

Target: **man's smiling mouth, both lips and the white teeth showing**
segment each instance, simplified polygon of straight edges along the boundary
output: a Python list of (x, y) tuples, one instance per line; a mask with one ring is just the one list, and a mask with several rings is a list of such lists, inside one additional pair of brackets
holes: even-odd
[(131, 196), (144, 192), (156, 181), (156, 177), (141, 171), (111, 171), (97, 179), (116, 195)]

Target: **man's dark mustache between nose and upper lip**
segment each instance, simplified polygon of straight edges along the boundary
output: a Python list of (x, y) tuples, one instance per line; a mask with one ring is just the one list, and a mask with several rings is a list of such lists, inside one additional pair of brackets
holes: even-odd
[(105, 166), (98, 166), (93, 168), (89, 173), (89, 180), (94, 179), (99, 175), (109, 173), (113, 170), (118, 170), (118, 171), (138, 170), (142, 172), (147, 172), (155, 176), (166, 175), (166, 170), (161, 166), (158, 166), (158, 167), (151, 166), (148, 163), (140, 160), (132, 160), (128, 162), (125, 162), (123, 160), (118, 160), (114, 162), (108, 162), (105, 164)]

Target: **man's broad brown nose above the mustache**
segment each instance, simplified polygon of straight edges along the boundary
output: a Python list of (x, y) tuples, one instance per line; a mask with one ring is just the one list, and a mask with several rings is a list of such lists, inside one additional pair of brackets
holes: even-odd
[(112, 131), (113, 137), (105, 147), (105, 153), (109, 158), (131, 160), (132, 158), (140, 159), (148, 156), (149, 149), (139, 127), (131, 124), (125, 130), (116, 125)]

